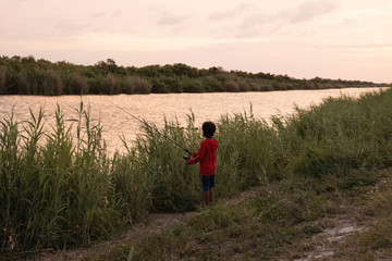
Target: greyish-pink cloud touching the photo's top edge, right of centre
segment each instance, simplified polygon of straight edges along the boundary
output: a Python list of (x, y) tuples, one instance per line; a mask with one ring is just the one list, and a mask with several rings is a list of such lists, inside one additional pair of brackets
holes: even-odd
[(314, 20), (315, 17), (331, 13), (340, 7), (335, 1), (307, 1), (297, 7), (290, 13), (290, 23), (302, 23)]

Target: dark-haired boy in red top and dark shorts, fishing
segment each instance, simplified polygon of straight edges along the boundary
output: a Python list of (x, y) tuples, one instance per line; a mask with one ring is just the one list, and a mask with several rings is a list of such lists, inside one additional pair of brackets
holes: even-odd
[(206, 137), (201, 141), (199, 151), (193, 153), (193, 159), (187, 161), (187, 164), (195, 164), (199, 162), (200, 182), (203, 187), (203, 198), (206, 206), (213, 202), (212, 188), (215, 187), (215, 174), (217, 170), (217, 150), (218, 141), (213, 138), (217, 129), (215, 123), (205, 122), (203, 124), (203, 135)]

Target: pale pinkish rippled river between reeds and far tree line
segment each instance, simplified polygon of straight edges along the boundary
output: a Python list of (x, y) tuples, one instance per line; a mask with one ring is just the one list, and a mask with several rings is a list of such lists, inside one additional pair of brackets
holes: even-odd
[[(293, 113), (294, 105), (309, 108), (320, 103), (327, 97), (347, 95), (354, 98), (360, 94), (377, 91), (378, 88), (344, 88), (323, 90), (286, 90), (270, 92), (215, 92), (215, 94), (167, 94), (167, 95), (118, 95), (118, 96), (0, 96), (0, 119), (9, 119), (12, 111), (17, 121), (30, 120), (29, 109), (37, 113), (45, 108), (46, 126), (53, 124), (53, 115), (59, 104), (65, 119), (75, 119), (75, 109), (83, 99), (85, 108), (90, 107), (93, 120), (99, 120), (103, 126), (103, 138), (108, 151), (122, 150), (120, 136), (134, 140), (140, 133), (140, 122), (128, 115), (144, 119), (158, 126), (163, 119), (177, 119), (185, 124), (191, 111), (195, 114), (196, 125), (203, 122), (218, 121), (220, 115), (235, 112), (249, 112), (250, 104), (256, 117), (267, 122), (272, 115), (286, 116)], [(123, 110), (119, 109), (122, 108)]]

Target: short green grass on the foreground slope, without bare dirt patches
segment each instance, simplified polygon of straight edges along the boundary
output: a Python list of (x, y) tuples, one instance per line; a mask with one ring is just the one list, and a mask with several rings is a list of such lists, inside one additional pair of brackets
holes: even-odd
[[(384, 184), (391, 173), (391, 169), (367, 172), (378, 184)], [(368, 215), (377, 209), (387, 212), (378, 213), (377, 223), (359, 237), (355, 234), (343, 240), (333, 260), (377, 260), (380, 256), (375, 251), (379, 250), (389, 251), (384, 257), (391, 257), (391, 188), (383, 186), (373, 204), (373, 182), (345, 187), (347, 181), (365, 174), (353, 171), (347, 178), (330, 177), (322, 183), (319, 178), (294, 177), (266, 184), (254, 198), (237, 204), (221, 200), (183, 224), (124, 239), (83, 260), (294, 260), (315, 249), (315, 237), (334, 227), (339, 216), (350, 215), (372, 224), (375, 219)]]

